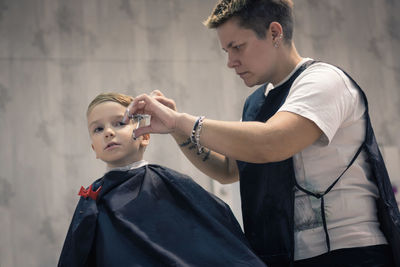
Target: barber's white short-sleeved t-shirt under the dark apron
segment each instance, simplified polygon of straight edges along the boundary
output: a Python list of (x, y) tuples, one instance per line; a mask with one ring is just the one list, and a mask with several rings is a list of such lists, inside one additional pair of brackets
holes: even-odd
[[(310, 58), (303, 59), (279, 86)], [(273, 90), (270, 84), (266, 94)], [(297, 182), (324, 192), (343, 172), (365, 138), (365, 106), (350, 79), (338, 68), (315, 63), (294, 81), (278, 110), (313, 121), (323, 132), (311, 146), (293, 156)], [(325, 214), (331, 250), (386, 244), (379, 229), (378, 189), (371, 181), (362, 152), (332, 190), (325, 195)], [(322, 225), (321, 201), (295, 193), (295, 260), (328, 251)]]

